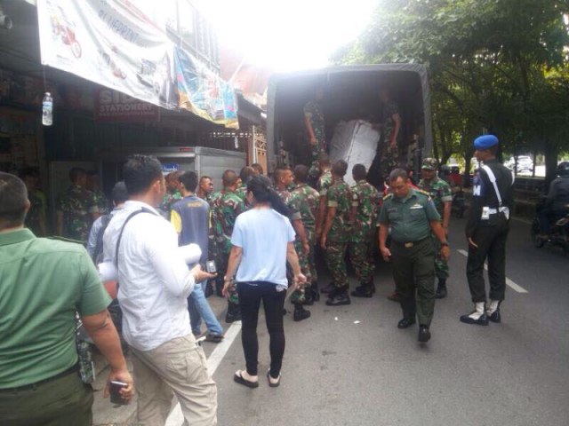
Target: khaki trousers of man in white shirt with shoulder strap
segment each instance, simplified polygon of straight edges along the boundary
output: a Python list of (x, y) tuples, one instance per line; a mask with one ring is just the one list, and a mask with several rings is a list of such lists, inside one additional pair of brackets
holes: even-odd
[(217, 387), (193, 335), (173, 339), (151, 351), (131, 349), (140, 426), (164, 426), (173, 395), (188, 424), (217, 424)]

